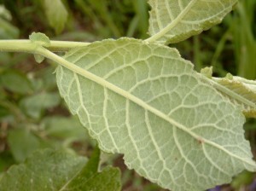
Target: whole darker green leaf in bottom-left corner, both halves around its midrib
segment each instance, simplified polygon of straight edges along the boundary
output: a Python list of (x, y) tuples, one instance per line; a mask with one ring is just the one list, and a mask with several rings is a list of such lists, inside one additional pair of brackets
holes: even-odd
[[(90, 159), (86, 164), (86, 158), (63, 150), (47, 149), (36, 152), (24, 164), (14, 165), (7, 173), (3, 174), (0, 190), (120, 190), (119, 170), (108, 167), (102, 172), (97, 172), (97, 168), (89, 166), (94, 162), (98, 164), (99, 161), (96, 157)], [(86, 172), (90, 173), (86, 174)], [(105, 186), (109, 189), (103, 189)]]

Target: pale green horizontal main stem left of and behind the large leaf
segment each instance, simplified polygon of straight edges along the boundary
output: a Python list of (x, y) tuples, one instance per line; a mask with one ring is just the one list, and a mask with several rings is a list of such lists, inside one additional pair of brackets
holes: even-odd
[[(70, 49), (87, 46), (90, 43), (72, 42), (72, 41), (50, 41), (47, 47), (53, 52), (65, 52)], [(0, 52), (28, 52), (34, 53), (32, 50), (37, 49), (38, 45), (30, 40), (0, 40)]]

